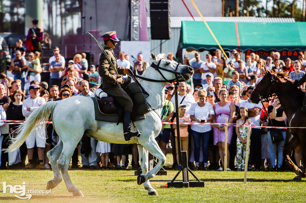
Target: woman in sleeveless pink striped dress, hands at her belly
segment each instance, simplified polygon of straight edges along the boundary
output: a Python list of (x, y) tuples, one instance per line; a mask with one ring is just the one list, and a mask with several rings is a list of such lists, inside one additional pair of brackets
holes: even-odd
[[(213, 123), (225, 123), (225, 118), (228, 118), (228, 123), (233, 123), (235, 116), (235, 105), (233, 102), (227, 100), (228, 91), (225, 88), (219, 90), (219, 99), (220, 102), (215, 103), (214, 110), (215, 115), (213, 119)], [(226, 170), (230, 171), (230, 152), (229, 145), (232, 140), (233, 135), (233, 126), (228, 126), (227, 128), (227, 166)], [(214, 127), (214, 144), (218, 145), (219, 154), (221, 158), (222, 165), (224, 167), (224, 156), (225, 156), (225, 126), (218, 124)], [(219, 168), (219, 171), (222, 171), (223, 168)]]

